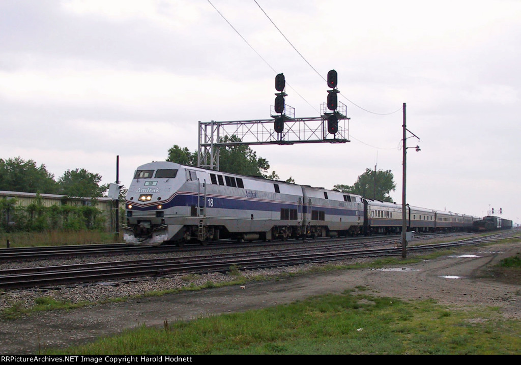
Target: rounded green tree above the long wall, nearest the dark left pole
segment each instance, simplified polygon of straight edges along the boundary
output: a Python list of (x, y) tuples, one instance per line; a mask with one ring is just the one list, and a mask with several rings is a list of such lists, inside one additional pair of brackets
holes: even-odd
[(59, 178), (60, 194), (68, 196), (101, 197), (109, 184), (100, 185), (101, 175), (85, 169), (67, 170)]

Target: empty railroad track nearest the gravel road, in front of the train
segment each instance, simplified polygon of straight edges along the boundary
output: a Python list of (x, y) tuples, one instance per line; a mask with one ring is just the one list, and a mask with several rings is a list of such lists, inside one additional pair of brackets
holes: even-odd
[[(473, 237), (464, 240), (410, 246), (408, 251), (425, 251), (447, 247), (496, 242), (507, 233)], [(521, 237), (514, 237), (521, 238)], [(166, 259), (144, 259), (83, 263), (27, 269), (0, 270), (0, 288), (56, 286), (63, 284), (100, 282), (140, 276), (165, 276), (174, 273), (202, 273), (296, 266), (309, 262), (327, 262), (352, 257), (400, 256), (401, 247), (360, 248), (352, 244), (328, 244), (307, 247), (268, 249), (215, 255), (196, 255)]]

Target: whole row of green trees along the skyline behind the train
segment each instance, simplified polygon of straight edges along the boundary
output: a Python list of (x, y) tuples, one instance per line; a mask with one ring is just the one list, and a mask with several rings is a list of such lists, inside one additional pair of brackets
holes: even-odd
[[(196, 166), (197, 151), (190, 152), (187, 147), (173, 145), (168, 150), (166, 160)], [(222, 172), (280, 180), (275, 171), (269, 172), (267, 159), (257, 156), (250, 147), (244, 145), (221, 147), (219, 165)], [(353, 185), (337, 184), (333, 190), (392, 202), (389, 193), (396, 188), (393, 179), (391, 170), (366, 169)], [(104, 196), (108, 190), (109, 184), (101, 184), (101, 180), (100, 174), (83, 168), (67, 170), (55, 180), (54, 174), (47, 171), (43, 163), (38, 166), (34, 160), (26, 161), (20, 157), (0, 159), (0, 190), (96, 198)], [(284, 181), (295, 183), (291, 176)]]

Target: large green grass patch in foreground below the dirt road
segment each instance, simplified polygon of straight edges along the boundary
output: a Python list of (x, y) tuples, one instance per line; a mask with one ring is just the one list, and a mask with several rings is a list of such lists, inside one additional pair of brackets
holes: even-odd
[(46, 354), (519, 354), (519, 321), (362, 290), (262, 310), (141, 326)]

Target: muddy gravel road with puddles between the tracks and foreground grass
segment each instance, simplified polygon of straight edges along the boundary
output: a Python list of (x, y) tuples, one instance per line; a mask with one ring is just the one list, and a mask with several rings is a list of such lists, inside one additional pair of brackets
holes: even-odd
[[(2, 354), (37, 354), (39, 349), (61, 347), (93, 341), (97, 337), (118, 333), (136, 326), (163, 325), (164, 321), (194, 319), (209, 314), (263, 308), (309, 296), (341, 293), (365, 286), (370, 294), (402, 299), (432, 298), (440, 304), (457, 307), (495, 306), (507, 318), (521, 319), (521, 286), (489, 275), (491, 265), (521, 251), (521, 241), (497, 244), (486, 249), (466, 247), (461, 256), (445, 256), (404, 268), (382, 270), (339, 270), (319, 274), (302, 274), (285, 280), (252, 282), (244, 286), (206, 289), (169, 294), (162, 297), (129, 299), (125, 303), (96, 305), (75, 310), (33, 313), (19, 320), (0, 321)], [(292, 268), (293, 271), (306, 267)], [(287, 270), (255, 271), (246, 275), (275, 275)], [(194, 278), (191, 278), (194, 279)], [(232, 280), (230, 275), (211, 274), (195, 278), (196, 284)], [(93, 300), (125, 296), (151, 288), (190, 285), (187, 278), (140, 280), (119, 286), (90, 285), (47, 293), (1, 293), (0, 303), (22, 300), (27, 296), (52, 295), (61, 299), (69, 295), (76, 300)], [(67, 294), (66, 294), (67, 293)], [(15, 296), (16, 297), (16, 296)], [(7, 305), (7, 304), (5, 304)]]

